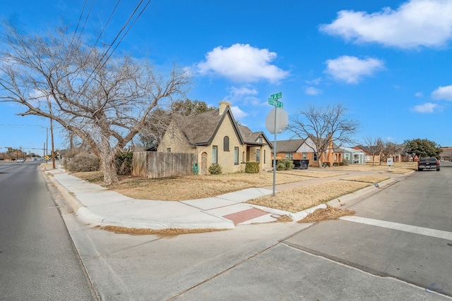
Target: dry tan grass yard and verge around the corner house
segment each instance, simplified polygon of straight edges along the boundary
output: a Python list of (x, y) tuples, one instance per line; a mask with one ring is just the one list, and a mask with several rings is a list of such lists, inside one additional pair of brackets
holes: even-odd
[[(391, 173), (407, 173), (416, 168), (415, 164), (396, 164)], [(347, 177), (347, 171), (369, 171), (361, 176)], [(342, 175), (342, 180), (328, 180), (332, 176)], [(102, 185), (102, 173), (73, 173), (90, 183)], [(274, 197), (267, 195), (252, 199), (251, 204), (297, 212), (317, 204), (328, 202), (342, 195), (355, 192), (369, 185), (390, 178), (388, 166), (335, 166), (333, 168), (309, 168), (308, 170), (278, 171), (276, 185), (304, 182), (314, 178), (323, 178), (325, 183), (300, 186), (292, 190), (277, 192)], [(271, 187), (273, 173), (231, 173), (210, 176), (184, 176), (179, 178), (145, 179), (122, 177), (120, 183), (110, 186), (128, 197), (135, 199), (157, 199), (182, 201), (215, 197), (227, 192), (246, 188)]]

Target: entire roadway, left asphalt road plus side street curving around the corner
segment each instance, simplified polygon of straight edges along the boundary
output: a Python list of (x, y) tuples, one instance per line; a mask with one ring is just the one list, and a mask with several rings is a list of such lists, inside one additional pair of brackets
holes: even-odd
[(355, 216), (178, 236), (81, 223), (37, 164), (0, 168), (2, 300), (93, 300), (67, 231), (101, 300), (452, 299), (452, 164), (344, 204)]

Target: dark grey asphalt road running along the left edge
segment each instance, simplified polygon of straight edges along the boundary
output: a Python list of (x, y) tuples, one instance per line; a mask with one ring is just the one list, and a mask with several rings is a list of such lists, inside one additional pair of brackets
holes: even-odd
[(0, 300), (96, 300), (39, 162), (0, 163)]

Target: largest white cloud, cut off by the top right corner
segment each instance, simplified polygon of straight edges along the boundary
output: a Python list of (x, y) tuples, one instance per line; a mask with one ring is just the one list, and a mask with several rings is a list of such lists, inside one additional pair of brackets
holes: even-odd
[(349, 41), (377, 42), (386, 46), (440, 47), (452, 37), (452, 1), (411, 0), (396, 10), (377, 13), (339, 11), (331, 24), (320, 30)]

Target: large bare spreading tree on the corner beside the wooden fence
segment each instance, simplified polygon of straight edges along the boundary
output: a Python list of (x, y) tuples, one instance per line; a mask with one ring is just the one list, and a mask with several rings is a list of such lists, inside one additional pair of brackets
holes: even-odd
[(1, 39), (0, 102), (17, 102), (20, 115), (52, 118), (80, 137), (100, 159), (105, 185), (117, 183), (114, 158), (157, 103), (184, 96), (191, 81), (176, 68), (164, 78), (147, 61), (110, 57), (64, 30), (25, 35), (4, 23)]

